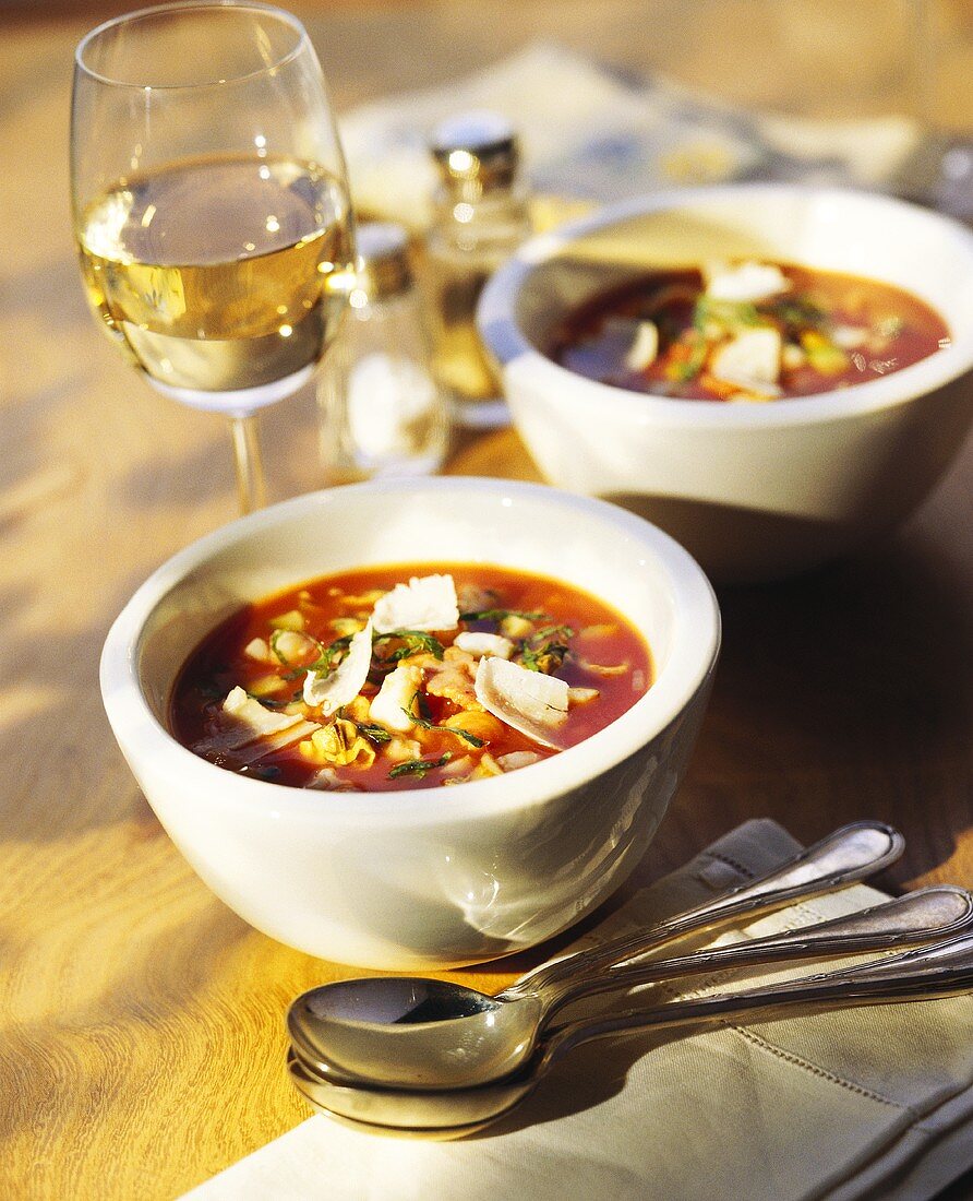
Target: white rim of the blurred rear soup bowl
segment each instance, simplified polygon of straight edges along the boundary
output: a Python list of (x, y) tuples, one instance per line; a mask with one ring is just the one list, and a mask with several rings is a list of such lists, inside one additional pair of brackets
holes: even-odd
[[(522, 331), (516, 312), (521, 287), (535, 268), (555, 257), (579, 238), (643, 214), (663, 213), (683, 207), (745, 202), (749, 209), (761, 201), (800, 201), (805, 204), (843, 203), (891, 214), (906, 223), (937, 228), (956, 241), (969, 259), (973, 277), (973, 231), (961, 222), (908, 201), (852, 187), (815, 186), (782, 181), (720, 184), (672, 189), (607, 204), (593, 213), (565, 221), (524, 241), (487, 281), (480, 297), (476, 325), (491, 354), (504, 374), (522, 372), (533, 387), (557, 388), (561, 393), (596, 405), (612, 405), (623, 417), (653, 425), (701, 429), (738, 429), (817, 425), (842, 418), (908, 404), (965, 375), (973, 368), (973, 327), (948, 323), (953, 342), (926, 359), (848, 388), (788, 396), (767, 405), (701, 404), (678, 396), (654, 396), (614, 384), (601, 383), (560, 366), (547, 358)], [(799, 259), (794, 259), (799, 262)], [(881, 276), (875, 276), (881, 280)]]

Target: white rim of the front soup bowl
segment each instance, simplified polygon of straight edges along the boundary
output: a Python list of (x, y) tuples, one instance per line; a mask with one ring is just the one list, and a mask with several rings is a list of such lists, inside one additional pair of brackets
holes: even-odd
[[(501, 502), (517, 503), (519, 497), (524, 504), (554, 504), (584, 512), (644, 545), (662, 569), (675, 615), (669, 658), (648, 692), (609, 725), (549, 759), (503, 777), (452, 785), (446, 806), (437, 788), (360, 793), (349, 805), (347, 794), (240, 776), (217, 767), (178, 742), (156, 718), (139, 679), (145, 625), (172, 588), (214, 554), (244, 544), (252, 534), (277, 524), (308, 518), (330, 503), (354, 500), (355, 492), (421, 490), (442, 494), (479, 490)], [(409, 826), (529, 808), (597, 778), (661, 734), (687, 709), (714, 671), (720, 640), (719, 604), (702, 568), (679, 543), (642, 518), (606, 501), (543, 484), (485, 477), (403, 478), (304, 494), (238, 518), (178, 551), (137, 588), (112, 625), (102, 649), (100, 682), (109, 724), (134, 773), (138, 775), (136, 763), (148, 758), (155, 776), (179, 777), (185, 782), (186, 793), (197, 797), (197, 803), (199, 796), (210, 796), (216, 805), (245, 805), (265, 809), (275, 818), (287, 812), (307, 819), (337, 818), (344, 825), (358, 825), (394, 817), (397, 824)], [(131, 746), (133, 741), (138, 743), (137, 749)]]

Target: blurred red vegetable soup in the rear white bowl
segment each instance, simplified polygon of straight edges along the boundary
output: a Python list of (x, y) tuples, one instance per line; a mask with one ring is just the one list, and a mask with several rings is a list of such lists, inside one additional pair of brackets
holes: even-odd
[(683, 400), (762, 402), (877, 380), (949, 345), (889, 283), (783, 263), (654, 271), (589, 300), (549, 354), (579, 375)]

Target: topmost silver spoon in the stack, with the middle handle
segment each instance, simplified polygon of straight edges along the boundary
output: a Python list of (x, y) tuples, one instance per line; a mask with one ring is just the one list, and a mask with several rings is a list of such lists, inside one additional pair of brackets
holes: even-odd
[[(973, 897), (965, 889), (935, 885), (782, 934), (623, 964), (601, 978), (579, 975), (565, 980), (559, 996), (567, 1003), (728, 968), (909, 946), (955, 934), (971, 921)], [(299, 998), (289, 1026), (295, 1053), (323, 1078), (434, 1091), (486, 1085), (515, 1072), (534, 1052), (553, 1008), (546, 1009), (536, 992), (487, 997), (439, 980), (353, 980), (334, 994), (324, 987)]]

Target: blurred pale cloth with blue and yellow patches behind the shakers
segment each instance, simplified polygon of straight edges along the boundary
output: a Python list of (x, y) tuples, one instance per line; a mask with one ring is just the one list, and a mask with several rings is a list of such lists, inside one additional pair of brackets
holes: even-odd
[(609, 202), (752, 174), (895, 190), (915, 173), (923, 142), (918, 124), (897, 114), (812, 121), (745, 113), (536, 42), (466, 79), (346, 113), (338, 124), (358, 207), (425, 228), (437, 184), (428, 136), (473, 108), (513, 124), (533, 187), (563, 199)]

